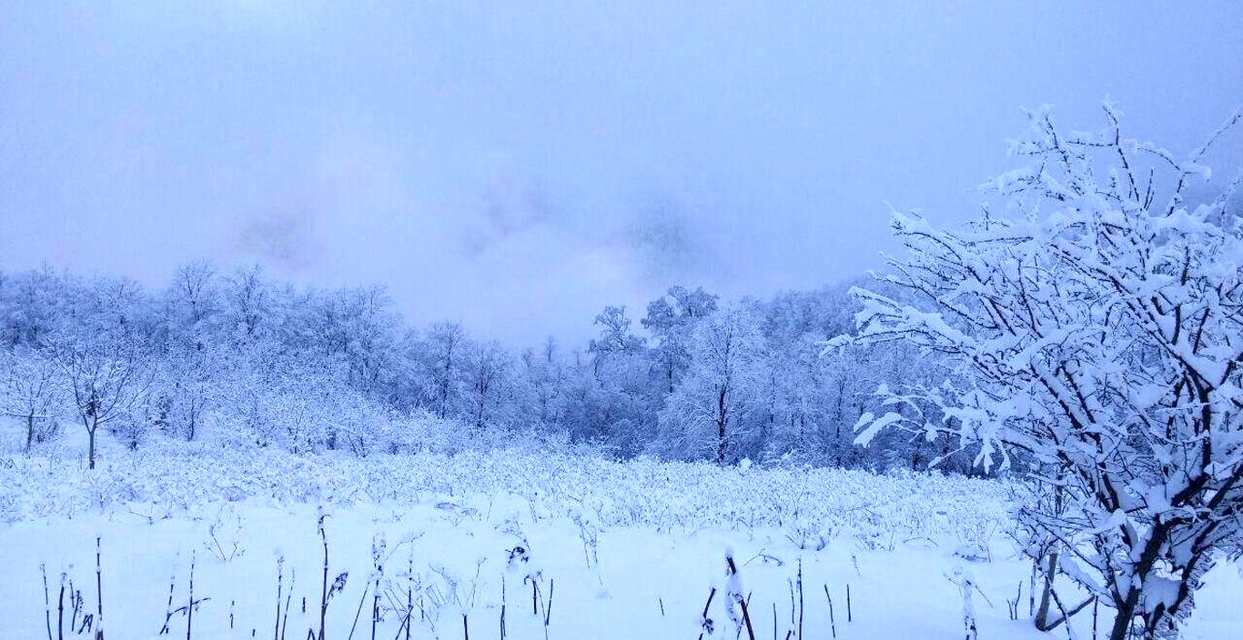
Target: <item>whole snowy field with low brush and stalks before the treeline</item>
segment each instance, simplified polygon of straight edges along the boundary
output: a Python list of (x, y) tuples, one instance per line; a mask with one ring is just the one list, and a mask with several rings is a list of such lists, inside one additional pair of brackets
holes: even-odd
[[(189, 625), (200, 639), (305, 639), (319, 628), (324, 538), (328, 590), (347, 575), (327, 638), (370, 639), (373, 610), (385, 639), (405, 638), (408, 618), (410, 638), (501, 638), (502, 616), (512, 639), (697, 638), (713, 587), (705, 638), (746, 638), (725, 608), (730, 549), (756, 638), (798, 638), (799, 611), (804, 638), (961, 638), (960, 570), (978, 585), (979, 638), (1066, 636), (1030, 625), (1029, 564), (1008, 537), (1017, 493), (999, 482), (547, 452), (357, 460), (109, 445), (96, 472), (72, 444), (0, 456), (0, 638), (48, 626), (58, 638), (62, 574), (82, 597), (75, 615), (66, 592), (65, 638), (80, 636), (98, 606), (97, 538), (107, 638), (157, 638), (167, 623), (174, 638)], [(1238, 570), (1218, 568), (1186, 636), (1239, 638), (1241, 611)], [(1091, 638), (1090, 618), (1076, 619), (1079, 638)]]

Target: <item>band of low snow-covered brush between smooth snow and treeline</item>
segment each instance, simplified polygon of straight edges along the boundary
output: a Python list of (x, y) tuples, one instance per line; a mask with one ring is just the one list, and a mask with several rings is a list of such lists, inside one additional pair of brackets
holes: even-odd
[(891, 548), (912, 538), (952, 544), (979, 531), (1002, 537), (1014, 488), (940, 473), (758, 470), (650, 459), (618, 462), (556, 444), (531, 451), (360, 460), (169, 442), (119, 451), (94, 471), (72, 457), (0, 460), (0, 519), (9, 522), (99, 510), (124, 512), (132, 502), (196, 512), (221, 500), (348, 506), (516, 495), (539, 514), (589, 513), (607, 527), (772, 527), (784, 529), (791, 539), (845, 536), (871, 548)]

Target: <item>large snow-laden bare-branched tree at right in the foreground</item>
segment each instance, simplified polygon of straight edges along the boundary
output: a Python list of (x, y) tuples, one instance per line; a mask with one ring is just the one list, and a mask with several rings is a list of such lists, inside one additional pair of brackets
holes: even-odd
[(1028, 164), (989, 185), (1004, 210), (955, 230), (895, 214), (909, 252), (884, 280), (916, 303), (854, 295), (859, 341), (955, 367), (883, 390), (860, 441), (948, 434), (986, 470), (1022, 466), (1045, 496), (1019, 517), (1049, 584), (1110, 603), (1121, 639), (1132, 616), (1176, 633), (1243, 536), (1243, 217), (1239, 180), (1186, 195), (1209, 175), (1207, 144), (1181, 159), (1105, 113), (1104, 130), (1070, 134), (1033, 113), (1013, 143)]

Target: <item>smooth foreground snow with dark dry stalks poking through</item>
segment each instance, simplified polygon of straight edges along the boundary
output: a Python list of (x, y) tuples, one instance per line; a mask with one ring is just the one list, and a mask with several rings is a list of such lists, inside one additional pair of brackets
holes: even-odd
[[(77, 584), (92, 583), (94, 537), (103, 546), (104, 613), (112, 633), (124, 638), (149, 638), (159, 630), (165, 613), (169, 575), (178, 574), (177, 599), (186, 597), (185, 578), (190, 552), (196, 551), (195, 594), (211, 598), (195, 616), (195, 638), (249, 638), (250, 630), (271, 633), (276, 600), (277, 547), (285, 554), (285, 580), (296, 572), (293, 610), (290, 614), (291, 636), (305, 638), (306, 629), (317, 624), (316, 605), (321, 589), (321, 548), (316, 533), (316, 510), (312, 506), (272, 507), (242, 503), (227, 507), (227, 514), (240, 516), (245, 523), (240, 558), (222, 562), (206, 553), (201, 544), (209, 541), (208, 524), (215, 517), (200, 513), (201, 519), (170, 518), (148, 523), (145, 519), (117, 514), (112, 518), (52, 518), (22, 522), (0, 529), (4, 562), (29, 588), (6, 588), (0, 614), (11, 621), (12, 633), (36, 638), (42, 635), (42, 593), (39, 565), (46, 562), (48, 579), (55, 588), (61, 570), (68, 570)], [(542, 635), (541, 615), (531, 614), (531, 587), (525, 584), (523, 570), (508, 570), (508, 549), (518, 541), (506, 532), (511, 516), (479, 512), (469, 517), (438, 510), (435, 505), (408, 507), (358, 505), (329, 511), (326, 531), (329, 541), (331, 577), (348, 570), (346, 588), (329, 605), (329, 635), (344, 636), (353, 623), (364, 583), (372, 569), (372, 537), (389, 541), (385, 565), (395, 590), (404, 594), (408, 555), (414, 553), (416, 579), (447, 592), (443, 572), (457, 580), (457, 593), (474, 592), (476, 598), (461, 597), (441, 609), (428, 603), (426, 620), (415, 626), (415, 638), (431, 636), (435, 626), (440, 638), (461, 638), (459, 613), (470, 620), (472, 638), (496, 638), (501, 605), (501, 580), (505, 580), (506, 619), (510, 638)], [(917, 548), (900, 553), (858, 549), (854, 546), (830, 546), (822, 552), (800, 552), (778, 531), (757, 529), (735, 532), (720, 528), (670, 534), (649, 527), (624, 527), (607, 531), (600, 537), (599, 573), (605, 589), (597, 588), (595, 570), (583, 559), (582, 542), (566, 519), (531, 522), (518, 518), (531, 546), (531, 562), (542, 564), (543, 580), (554, 580), (551, 638), (679, 638), (692, 636), (697, 614), (707, 597), (709, 585), (725, 582), (725, 553), (733, 546), (740, 564), (741, 584), (750, 589), (755, 625), (769, 630), (772, 605), (778, 611), (778, 625), (784, 633), (789, 626), (789, 590), (786, 579), (793, 575), (797, 558), (803, 557), (807, 584), (805, 620), (809, 630), (827, 630), (828, 610), (822, 585), (834, 595), (835, 606), (844, 608), (845, 584), (850, 583), (854, 621), (844, 623), (844, 613), (835, 611), (837, 624), (844, 638), (957, 638), (958, 601), (952, 585), (945, 582), (942, 568), (952, 562), (938, 551)], [(413, 543), (401, 544), (404, 537)], [(21, 549), (20, 553), (15, 553)], [(759, 554), (764, 555), (761, 557)], [(479, 578), (476, 582), (476, 560)], [(781, 564), (778, 564), (778, 562)], [(858, 573), (855, 570), (858, 564)], [(983, 589), (994, 593), (1013, 590), (1013, 577), (1023, 574), (1018, 562), (1006, 562), (987, 568)], [(10, 583), (11, 584), (11, 583)], [(419, 589), (415, 587), (415, 592)], [(93, 593), (93, 589), (87, 589)], [(725, 611), (727, 600), (718, 593), (713, 601), (713, 618), (725, 635), (733, 629)], [(307, 614), (301, 613), (301, 599), (307, 598)], [(55, 598), (55, 594), (53, 594)], [(92, 601), (88, 595), (87, 601)], [(404, 601), (404, 600), (403, 600)], [(235, 626), (229, 630), (232, 606)], [(661, 615), (661, 605), (664, 615)], [(55, 605), (53, 605), (55, 608)], [(368, 598), (363, 623), (369, 623)], [(907, 611), (910, 615), (892, 615)], [(53, 613), (55, 618), (55, 613)], [(382, 624), (384, 638), (392, 638), (400, 618), (389, 613)], [(1006, 619), (1002, 611), (982, 611), (983, 634), (1006, 638), (1038, 638), (1028, 625)], [(185, 619), (178, 618), (173, 633), (184, 634)], [(122, 631), (123, 630), (123, 631)], [(369, 629), (368, 629), (369, 633)], [(720, 631), (718, 631), (720, 634)], [(895, 635), (901, 634), (901, 635)]]

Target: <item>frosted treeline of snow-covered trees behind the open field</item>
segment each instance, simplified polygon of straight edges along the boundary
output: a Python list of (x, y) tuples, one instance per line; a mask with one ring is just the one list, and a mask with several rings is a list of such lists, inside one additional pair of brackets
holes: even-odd
[(946, 375), (905, 343), (822, 353), (853, 331), (846, 290), (726, 304), (672, 287), (641, 317), (605, 307), (587, 345), (515, 352), (455, 323), (408, 327), (383, 287), (298, 288), (257, 267), (191, 263), (158, 291), (0, 272), (0, 411), (27, 449), (81, 425), (92, 465), (103, 429), (135, 449), (367, 456), (558, 437), (620, 457), (968, 467), (922, 437), (853, 445), (879, 386)]

